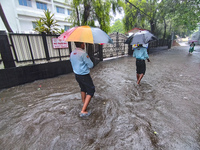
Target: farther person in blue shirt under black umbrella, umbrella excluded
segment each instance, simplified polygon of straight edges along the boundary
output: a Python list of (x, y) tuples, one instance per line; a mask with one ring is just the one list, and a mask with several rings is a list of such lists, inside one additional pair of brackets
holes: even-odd
[(147, 53), (147, 49), (143, 47), (142, 44), (139, 44), (139, 46), (135, 48), (133, 57), (136, 58), (136, 77), (137, 84), (139, 85), (146, 72), (145, 60), (147, 59), (148, 62), (150, 62), (150, 59)]

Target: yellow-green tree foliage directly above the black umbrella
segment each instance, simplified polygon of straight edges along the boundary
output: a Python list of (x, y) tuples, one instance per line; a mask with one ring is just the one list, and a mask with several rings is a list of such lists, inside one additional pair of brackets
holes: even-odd
[(129, 0), (126, 4), (125, 17), (123, 19), (126, 31), (133, 27), (145, 28), (155, 32), (157, 23), (158, 0)]

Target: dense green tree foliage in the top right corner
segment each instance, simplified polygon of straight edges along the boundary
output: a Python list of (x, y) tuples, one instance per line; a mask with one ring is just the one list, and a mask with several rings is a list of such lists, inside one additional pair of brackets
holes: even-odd
[(166, 35), (176, 34), (184, 37), (195, 30), (200, 21), (199, 3), (198, 0), (162, 0), (159, 8), (160, 20), (166, 23)]

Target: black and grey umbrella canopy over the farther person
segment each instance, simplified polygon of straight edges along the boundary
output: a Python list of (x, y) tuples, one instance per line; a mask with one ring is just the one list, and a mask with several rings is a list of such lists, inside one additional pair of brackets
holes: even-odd
[(147, 44), (151, 41), (157, 40), (157, 38), (149, 31), (139, 31), (131, 35), (127, 40), (126, 44)]

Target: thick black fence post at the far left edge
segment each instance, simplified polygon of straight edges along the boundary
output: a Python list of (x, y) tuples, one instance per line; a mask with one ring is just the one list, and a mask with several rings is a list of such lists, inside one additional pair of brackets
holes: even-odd
[(16, 67), (5, 31), (0, 31), (0, 53), (5, 68)]

